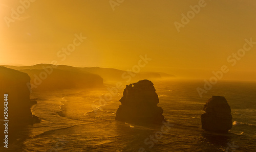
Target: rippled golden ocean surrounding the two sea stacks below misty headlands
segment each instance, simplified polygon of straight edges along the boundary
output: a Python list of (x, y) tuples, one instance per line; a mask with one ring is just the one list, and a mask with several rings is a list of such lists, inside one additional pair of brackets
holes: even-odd
[[(168, 127), (116, 121), (123, 89), (110, 92), (115, 83), (101, 89), (32, 92), (37, 100), (32, 112), (42, 121), (29, 126), (23, 133), (28, 136), (10, 144), (9, 150), (256, 151), (256, 83), (220, 81), (200, 97), (196, 89), (203, 88), (203, 81), (152, 82)], [(212, 95), (224, 96), (231, 107), (228, 134), (201, 129), (204, 104)]]

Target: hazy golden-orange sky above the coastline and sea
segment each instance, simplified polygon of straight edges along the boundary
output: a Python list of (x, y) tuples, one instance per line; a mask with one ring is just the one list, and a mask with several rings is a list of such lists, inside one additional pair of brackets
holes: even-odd
[[(55, 60), (71, 66), (125, 70), (146, 54), (152, 60), (144, 71), (194, 76), (206, 71), (210, 76), (212, 70), (227, 65), (234, 73), (251, 79), (256, 76), (256, 44), (251, 44), (240, 60), (235, 59), (234, 66), (234, 57), (227, 61), (243, 48), (245, 39), (256, 42), (253, 0), (113, 0), (113, 6), (109, 0), (24, 2), (26, 8), (20, 1), (0, 0), (0, 64)], [(191, 13), (190, 6), (195, 5), (200, 11), (196, 7), (198, 12)], [(17, 14), (12, 9), (18, 9)], [(189, 21), (183, 19), (186, 24), (178, 32), (174, 22), (182, 23), (181, 14), (187, 16), (189, 11), (192, 16)], [(61, 49), (80, 33), (87, 38), (64, 59)]]

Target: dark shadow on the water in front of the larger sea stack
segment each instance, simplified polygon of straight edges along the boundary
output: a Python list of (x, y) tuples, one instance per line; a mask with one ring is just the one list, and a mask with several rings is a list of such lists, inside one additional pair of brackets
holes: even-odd
[(168, 142), (173, 130), (172, 123), (164, 121), (157, 124), (133, 124), (115, 121), (115, 127), (123, 151), (159, 151), (162, 148), (166, 151), (170, 147)]

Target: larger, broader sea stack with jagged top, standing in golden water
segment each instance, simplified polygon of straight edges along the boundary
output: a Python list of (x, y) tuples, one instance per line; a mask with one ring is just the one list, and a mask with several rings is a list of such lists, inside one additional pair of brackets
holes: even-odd
[(130, 123), (161, 123), (163, 110), (158, 107), (158, 95), (154, 84), (149, 80), (126, 85), (121, 105), (116, 112), (116, 120)]

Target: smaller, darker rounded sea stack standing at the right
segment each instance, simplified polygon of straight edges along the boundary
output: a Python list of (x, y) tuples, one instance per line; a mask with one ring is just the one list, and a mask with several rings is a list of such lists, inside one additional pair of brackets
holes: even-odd
[(212, 96), (204, 105), (201, 115), (202, 129), (213, 132), (228, 132), (232, 128), (231, 109), (224, 96)]

